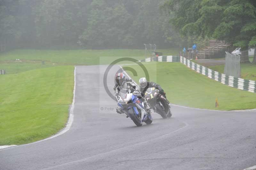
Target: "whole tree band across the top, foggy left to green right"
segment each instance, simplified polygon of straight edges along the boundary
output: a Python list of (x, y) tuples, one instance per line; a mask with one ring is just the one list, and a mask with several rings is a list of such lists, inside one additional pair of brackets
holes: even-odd
[[(0, 51), (256, 45), (255, 0), (0, 0)], [(80, 46), (79, 46), (80, 45)]]

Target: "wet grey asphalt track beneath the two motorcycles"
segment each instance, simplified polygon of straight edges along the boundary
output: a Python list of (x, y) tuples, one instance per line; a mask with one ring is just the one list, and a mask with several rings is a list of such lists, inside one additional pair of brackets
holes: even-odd
[[(256, 165), (256, 111), (173, 106), (171, 119), (153, 113), (151, 125), (136, 127), (125, 115), (105, 111), (116, 107), (102, 85), (105, 69), (77, 66), (70, 130), (50, 140), (0, 150), (0, 169), (242, 170)], [(111, 92), (115, 69), (119, 67), (108, 76)]]

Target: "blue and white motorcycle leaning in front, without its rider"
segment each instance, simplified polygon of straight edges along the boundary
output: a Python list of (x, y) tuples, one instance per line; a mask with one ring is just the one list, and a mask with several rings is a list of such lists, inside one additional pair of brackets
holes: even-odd
[(142, 126), (142, 122), (146, 124), (152, 123), (152, 116), (144, 109), (143, 102), (138, 98), (139, 94), (123, 92), (121, 90), (116, 96), (117, 104), (121, 108), (121, 112), (125, 113), (137, 126)]

